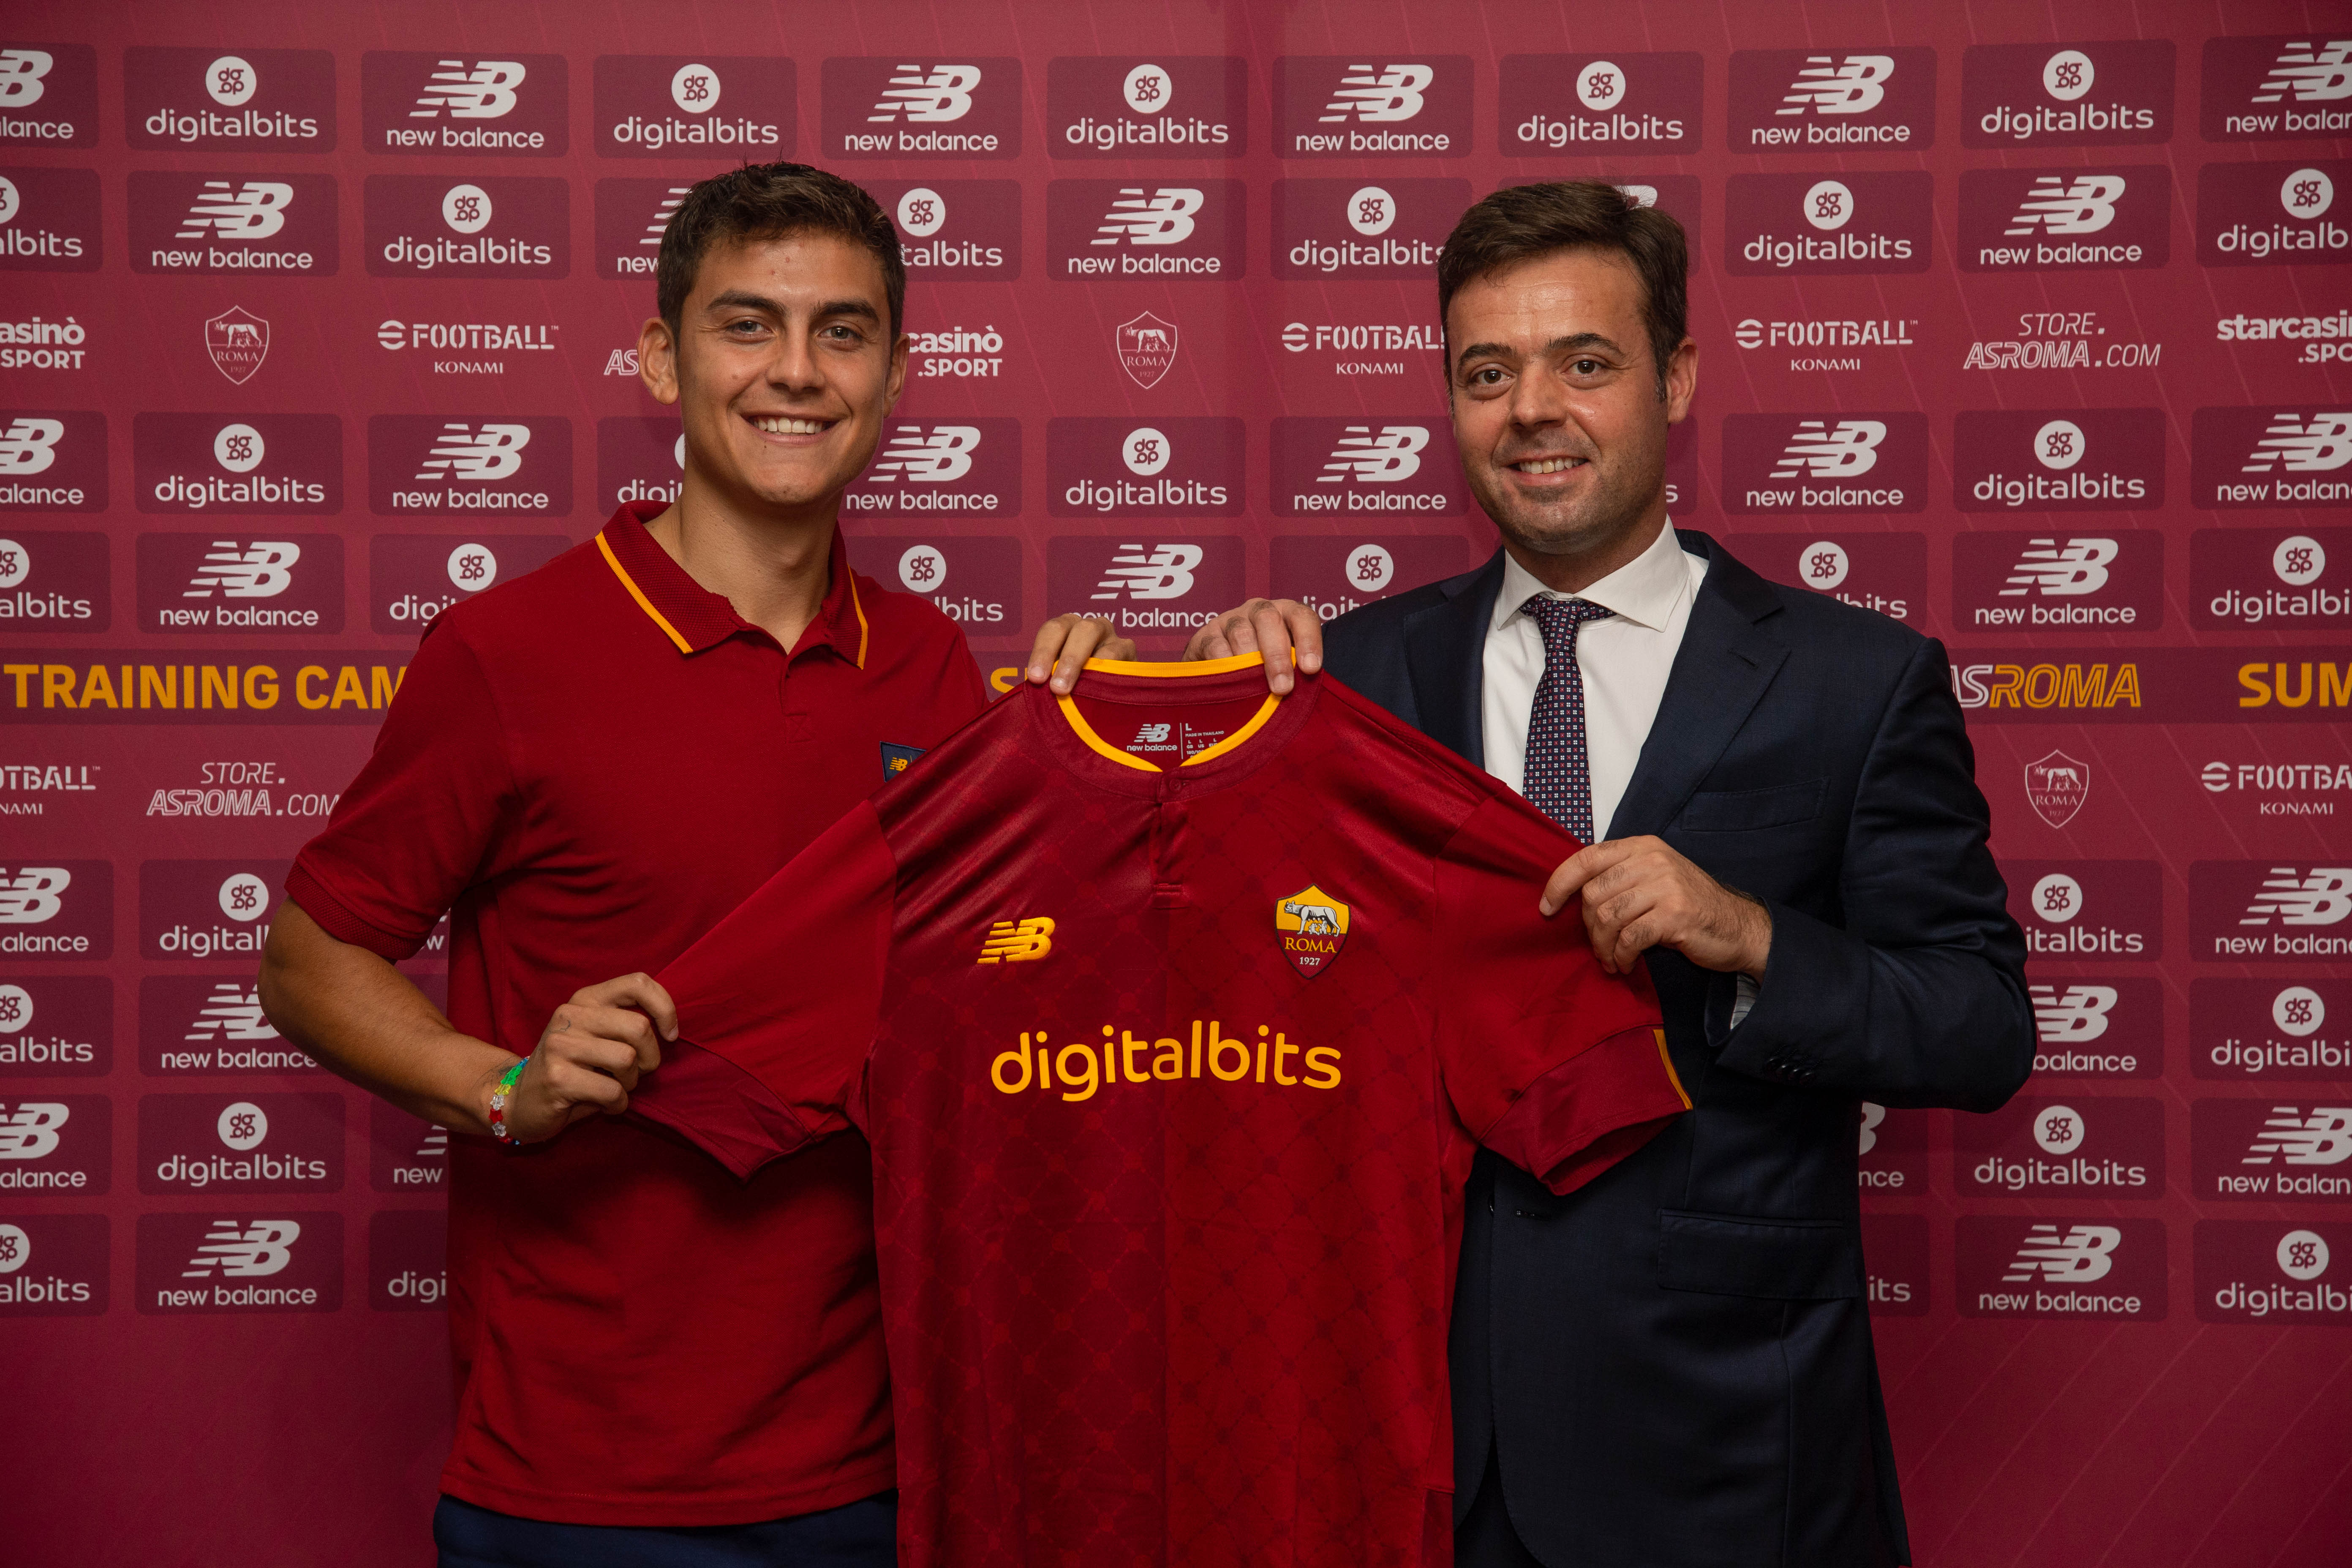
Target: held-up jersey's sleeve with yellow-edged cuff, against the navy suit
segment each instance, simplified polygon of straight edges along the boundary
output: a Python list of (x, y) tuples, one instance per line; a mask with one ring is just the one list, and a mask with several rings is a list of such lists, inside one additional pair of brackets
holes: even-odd
[(1543, 882), (1571, 842), (1489, 799), (1437, 856), (1437, 1051), (1479, 1143), (1573, 1192), (1691, 1107), (1665, 1056), (1649, 971), (1611, 976)]

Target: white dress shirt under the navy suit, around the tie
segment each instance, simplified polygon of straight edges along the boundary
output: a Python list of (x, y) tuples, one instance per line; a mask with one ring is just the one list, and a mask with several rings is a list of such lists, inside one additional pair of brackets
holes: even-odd
[(1543, 628), (1522, 607), (1548, 599), (1585, 599), (1616, 614), (1585, 621), (1576, 630), (1576, 668), (1585, 677), (1585, 759), (1592, 771), (1592, 832), (1609, 837), (1609, 818), (1625, 799), (1642, 743), (1658, 717), (1665, 677), (1675, 670), (1682, 630), (1708, 578), (1708, 557), (1684, 555), (1675, 524), (1658, 529), (1649, 550), (1632, 557), (1578, 595), (1552, 592), (1510, 555), (1503, 557), (1503, 592), (1486, 625), (1486, 679), (1479, 717), (1486, 733), (1486, 771), (1526, 795), (1526, 719), (1543, 679)]

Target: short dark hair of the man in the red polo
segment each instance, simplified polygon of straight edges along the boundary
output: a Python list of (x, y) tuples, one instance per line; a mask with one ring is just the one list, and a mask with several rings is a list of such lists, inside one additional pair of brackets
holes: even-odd
[(873, 252), (882, 263), (882, 289), (889, 294), (889, 336), (898, 339), (906, 320), (898, 226), (863, 186), (804, 162), (750, 162), (687, 190), (687, 200), (677, 202), (668, 228), (661, 230), (661, 256), (654, 261), (654, 301), (661, 320), (673, 334), (677, 331), (687, 294), (694, 292), (694, 273), (713, 247), (783, 235), (840, 235)]

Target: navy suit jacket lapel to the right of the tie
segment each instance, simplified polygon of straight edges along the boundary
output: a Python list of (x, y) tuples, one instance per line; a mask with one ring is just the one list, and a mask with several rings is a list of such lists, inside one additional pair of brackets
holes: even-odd
[(1708, 578), (1691, 607), (1642, 759), (1609, 818), (1611, 839), (1665, 832), (1788, 661), (1788, 644), (1771, 630), (1780, 611), (1773, 588), (1705, 534), (1677, 534), (1684, 548), (1700, 545), (1710, 562)]

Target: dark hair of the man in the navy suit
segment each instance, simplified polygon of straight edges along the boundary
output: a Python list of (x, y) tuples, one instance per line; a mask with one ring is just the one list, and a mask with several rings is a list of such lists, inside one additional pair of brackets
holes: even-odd
[(1665, 397), (1665, 362), (1689, 324), (1691, 247), (1682, 223), (1618, 186), (1562, 179), (1496, 190), (1461, 216), (1437, 256), (1437, 322), (1472, 277), (1552, 252), (1616, 252), (1642, 280), (1642, 324)]

